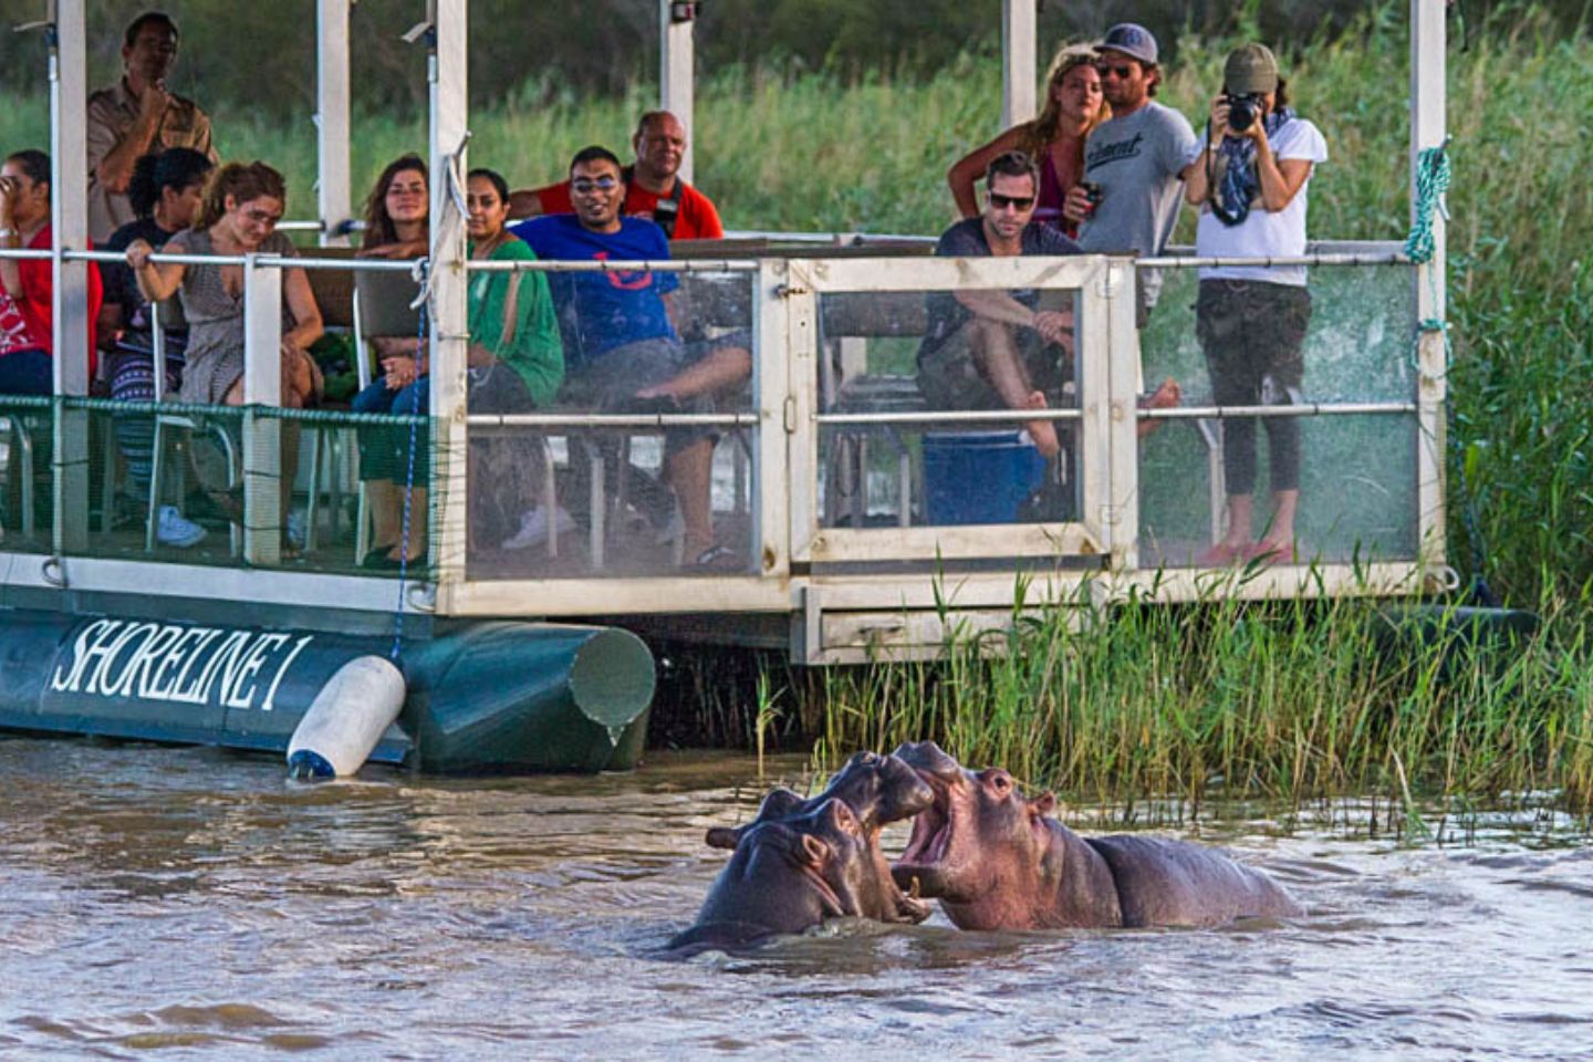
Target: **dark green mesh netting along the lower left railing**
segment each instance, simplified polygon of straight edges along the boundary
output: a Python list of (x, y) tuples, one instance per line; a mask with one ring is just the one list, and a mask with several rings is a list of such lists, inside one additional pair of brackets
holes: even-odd
[[(370, 498), (358, 479), (357, 455), (365, 436), (381, 436), (405, 452), (398, 529), (386, 545), (401, 538), (403, 486), (413, 486), (409, 533), (417, 559), (408, 575), (427, 578), (427, 498), (435, 497), (427, 486), (446, 465), (432, 457), (433, 422), (424, 416), (411, 420), (360, 417), (336, 408), (0, 398), (0, 549), (56, 552), (59, 500), (65, 532), (61, 552), (68, 557), (261, 567), (245, 560), (245, 533), (255, 530), (261, 538), (276, 538), (279, 559), (266, 567), (397, 576), (397, 564), (374, 564), (371, 557), (382, 545), (376, 535), (387, 529), (358, 530), (360, 516), (370, 516)], [(260, 495), (271, 489), (268, 481), (253, 481), (250, 497), (244, 468), (250, 431), (256, 444), (276, 436), (282, 467), (293, 470), (288, 489), (276, 498), (274, 519)], [(57, 471), (57, 441), (84, 455), (81, 473), (70, 465)], [(56, 489), (57, 474), (62, 490)], [(202, 588), (194, 592), (202, 595)]]

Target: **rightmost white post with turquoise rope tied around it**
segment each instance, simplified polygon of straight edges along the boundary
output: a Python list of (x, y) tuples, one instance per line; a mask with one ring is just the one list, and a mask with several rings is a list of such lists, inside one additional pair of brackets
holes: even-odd
[[(1442, 146), (1448, 131), (1445, 123), (1446, 86), (1445, 0), (1411, 0), (1410, 5), (1410, 191), (1411, 218), (1416, 217), (1416, 178), (1421, 151)], [(1416, 320), (1443, 320), (1446, 312), (1445, 220), (1432, 218), (1432, 260), (1416, 267)], [(1446, 353), (1443, 333), (1423, 331), (1418, 339), (1419, 365), (1416, 417), (1419, 443), (1416, 452), (1416, 497), (1421, 530), (1421, 556), (1429, 567), (1445, 562), (1445, 417)]]

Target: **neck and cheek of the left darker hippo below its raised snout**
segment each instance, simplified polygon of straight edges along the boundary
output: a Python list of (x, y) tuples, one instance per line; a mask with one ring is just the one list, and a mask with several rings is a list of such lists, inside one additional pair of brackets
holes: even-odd
[[(747, 826), (696, 922), (669, 941), (666, 954), (744, 951), (827, 919), (898, 920), (889, 868), (881, 882), (870, 847), (868, 831), (836, 798)], [(929, 908), (918, 906), (922, 920)]]

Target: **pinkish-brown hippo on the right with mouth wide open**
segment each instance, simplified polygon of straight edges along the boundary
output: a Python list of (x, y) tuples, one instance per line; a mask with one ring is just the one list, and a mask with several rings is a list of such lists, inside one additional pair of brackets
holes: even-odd
[(935, 790), (892, 866), (897, 885), (940, 900), (964, 930), (1211, 927), (1289, 917), (1270, 877), (1187, 841), (1080, 837), (997, 767), (973, 772), (933, 742), (895, 750)]

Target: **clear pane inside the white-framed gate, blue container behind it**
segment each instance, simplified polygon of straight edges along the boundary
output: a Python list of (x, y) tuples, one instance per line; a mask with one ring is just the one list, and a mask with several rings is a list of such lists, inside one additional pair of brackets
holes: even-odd
[[(992, 295), (1005, 293), (962, 293), (975, 307)], [(1074, 312), (1067, 290), (1016, 295)], [(1072, 519), (1077, 422), (1026, 424), (992, 382), (996, 358), (1015, 366), (1024, 392), (1045, 395), (1048, 411), (1078, 408), (1072, 358), (1061, 344), (981, 317), (959, 293), (820, 295), (819, 525)], [(1048, 460), (1031, 431), (1055, 433), (1059, 452)]]

